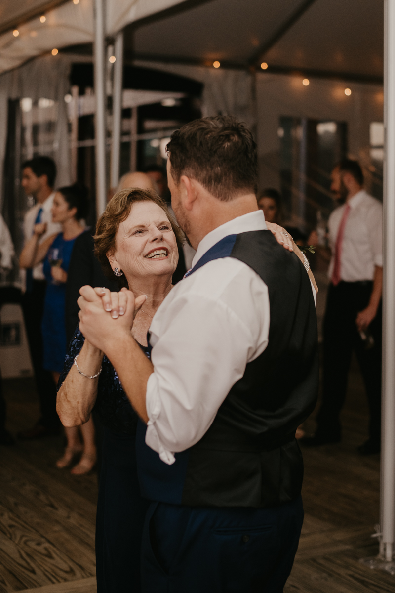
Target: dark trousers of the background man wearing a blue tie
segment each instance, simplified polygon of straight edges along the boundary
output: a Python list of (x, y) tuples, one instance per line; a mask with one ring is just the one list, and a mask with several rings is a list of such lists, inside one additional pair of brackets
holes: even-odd
[(30, 348), (31, 362), (38, 397), (40, 398), (41, 418), (38, 423), (53, 430), (60, 426), (59, 416), (56, 413), (56, 385), (50, 371), (43, 369), (43, 337), (41, 334), (41, 321), (44, 312), (46, 282), (33, 280), (33, 290), (25, 292), (22, 299), (25, 328)]

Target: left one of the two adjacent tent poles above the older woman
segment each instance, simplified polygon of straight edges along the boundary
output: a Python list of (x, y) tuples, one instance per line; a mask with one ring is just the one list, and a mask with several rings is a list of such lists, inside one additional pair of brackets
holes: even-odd
[(104, 212), (106, 205), (106, 174), (105, 174), (105, 29), (104, 29), (105, 0), (95, 0), (95, 138), (96, 138), (96, 215)]

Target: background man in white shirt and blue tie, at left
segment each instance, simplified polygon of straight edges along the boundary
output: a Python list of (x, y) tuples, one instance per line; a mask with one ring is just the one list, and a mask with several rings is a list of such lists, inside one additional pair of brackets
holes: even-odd
[[(33, 196), (36, 204), (27, 211), (24, 218), (24, 240), (33, 235), (34, 225), (45, 222), (46, 232), (41, 235), (40, 243), (54, 233), (61, 232), (60, 224), (52, 222), (51, 208), (53, 205), (56, 165), (52, 158), (37, 156), (22, 165), (22, 186), (26, 195)], [(23, 295), (23, 313), (25, 327), (33, 363), (40, 413), (36, 425), (18, 434), (22, 439), (34, 439), (59, 432), (59, 417), (56, 413), (56, 385), (52, 375), (43, 369), (43, 339), (41, 336), (41, 320), (43, 317), (46, 280), (43, 264), (26, 270), (25, 292)]]

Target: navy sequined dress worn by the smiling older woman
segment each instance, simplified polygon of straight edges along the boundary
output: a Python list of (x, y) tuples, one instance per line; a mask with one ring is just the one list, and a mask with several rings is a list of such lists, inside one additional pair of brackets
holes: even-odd
[[(59, 385), (83, 345), (84, 336), (77, 330), (70, 342)], [(141, 348), (149, 357), (150, 348)], [(94, 410), (104, 425), (96, 518), (97, 593), (138, 593), (141, 539), (149, 500), (140, 495), (137, 480), (137, 415), (106, 356)]]

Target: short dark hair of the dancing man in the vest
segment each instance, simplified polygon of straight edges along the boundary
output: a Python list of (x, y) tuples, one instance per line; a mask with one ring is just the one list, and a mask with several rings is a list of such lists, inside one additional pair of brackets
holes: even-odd
[(176, 130), (169, 144), (172, 177), (196, 179), (213, 196), (256, 193), (258, 156), (248, 127), (232, 116), (203, 117)]

